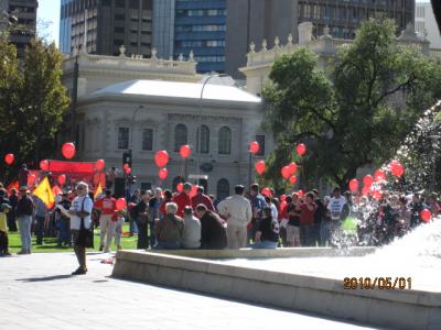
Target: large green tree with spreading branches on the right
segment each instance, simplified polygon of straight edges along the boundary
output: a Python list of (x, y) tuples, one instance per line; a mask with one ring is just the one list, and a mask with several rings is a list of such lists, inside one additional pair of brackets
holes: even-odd
[(327, 76), (306, 50), (275, 63), (263, 90), (265, 124), (278, 145), (269, 167), (286, 164), (287, 151), (292, 155), (297, 142), (308, 141), (308, 178), (344, 187), (357, 168), (379, 166), (395, 154), (423, 109), (441, 97), (441, 69), (399, 45), (394, 33), (391, 20), (364, 22)]

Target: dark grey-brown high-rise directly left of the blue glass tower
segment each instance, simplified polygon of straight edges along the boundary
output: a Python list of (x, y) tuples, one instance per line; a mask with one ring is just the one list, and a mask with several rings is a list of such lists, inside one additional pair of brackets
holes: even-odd
[(60, 50), (150, 56), (153, 0), (62, 0)]

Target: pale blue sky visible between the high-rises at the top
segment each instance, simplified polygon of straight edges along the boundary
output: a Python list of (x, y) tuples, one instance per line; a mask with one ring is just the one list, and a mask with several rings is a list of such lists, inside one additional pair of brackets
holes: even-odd
[[(429, 0), (417, 0), (417, 2), (429, 2)], [(60, 0), (39, 0), (37, 16), (50, 25), (39, 33), (46, 36), (49, 41), (55, 41), (58, 45), (60, 33)]]

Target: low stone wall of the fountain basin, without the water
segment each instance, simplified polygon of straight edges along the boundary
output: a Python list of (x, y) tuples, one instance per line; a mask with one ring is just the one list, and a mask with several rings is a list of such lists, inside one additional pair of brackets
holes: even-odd
[[(345, 254), (362, 256), (373, 251), (358, 248)], [(441, 329), (441, 293), (344, 289), (343, 278), (256, 270), (218, 261), (341, 255), (341, 251), (329, 248), (118, 251), (112, 276), (381, 327)]]

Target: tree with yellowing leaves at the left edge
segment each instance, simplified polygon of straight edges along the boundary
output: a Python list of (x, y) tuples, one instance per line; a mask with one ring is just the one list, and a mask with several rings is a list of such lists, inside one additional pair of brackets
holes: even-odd
[[(37, 164), (55, 151), (56, 133), (69, 99), (62, 85), (62, 54), (55, 44), (36, 38), (19, 62), (17, 50), (0, 41), (0, 154), (13, 153), (15, 164)], [(1, 162), (4, 169), (4, 164)]]

